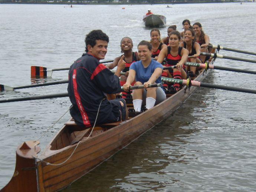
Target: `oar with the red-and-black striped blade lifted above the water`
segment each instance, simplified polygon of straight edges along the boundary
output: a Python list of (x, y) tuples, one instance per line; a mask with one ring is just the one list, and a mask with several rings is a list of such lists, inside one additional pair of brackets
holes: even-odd
[[(113, 61), (114, 60), (109, 60), (101, 63), (104, 64), (104, 63), (110, 63)], [(46, 67), (41, 67), (41, 66), (31, 66), (31, 77), (46, 78), (46, 77), (52, 76), (53, 71), (63, 71), (63, 70), (69, 70), (69, 67), (59, 68), (59, 69), (47, 69)]]

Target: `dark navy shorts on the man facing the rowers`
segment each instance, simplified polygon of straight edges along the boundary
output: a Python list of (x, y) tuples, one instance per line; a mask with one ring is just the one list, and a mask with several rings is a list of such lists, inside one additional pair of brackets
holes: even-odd
[(109, 101), (112, 105), (112, 112), (109, 115), (108, 123), (125, 120), (126, 103), (124, 99), (113, 99)]

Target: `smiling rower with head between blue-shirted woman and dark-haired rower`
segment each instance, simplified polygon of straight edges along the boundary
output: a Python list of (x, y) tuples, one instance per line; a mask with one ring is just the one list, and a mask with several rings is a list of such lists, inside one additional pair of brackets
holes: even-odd
[(152, 45), (153, 51), (151, 57), (157, 60), (158, 54), (160, 53), (161, 49), (167, 47), (167, 45), (161, 42), (160, 31), (158, 29), (152, 29), (150, 32), (150, 37), (150, 43)]

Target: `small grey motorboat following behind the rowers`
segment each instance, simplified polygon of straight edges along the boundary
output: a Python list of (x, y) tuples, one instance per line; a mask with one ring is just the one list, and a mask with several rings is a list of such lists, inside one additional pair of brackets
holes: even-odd
[(166, 17), (163, 15), (151, 14), (144, 16), (143, 21), (146, 27), (164, 27), (166, 24)]

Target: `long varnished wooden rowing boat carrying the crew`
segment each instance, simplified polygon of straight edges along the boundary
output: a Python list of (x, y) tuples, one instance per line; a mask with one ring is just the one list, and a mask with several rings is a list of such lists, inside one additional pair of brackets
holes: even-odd
[[(201, 82), (205, 77), (201, 70), (194, 80)], [(39, 156), (38, 141), (24, 142), (16, 150), (13, 177), (1, 192), (45, 192), (65, 188), (167, 118), (195, 89), (184, 86), (152, 109), (135, 117), (131, 113), (129, 120), (124, 122), (97, 125), (92, 133), (92, 128), (78, 126), (69, 120)]]

